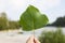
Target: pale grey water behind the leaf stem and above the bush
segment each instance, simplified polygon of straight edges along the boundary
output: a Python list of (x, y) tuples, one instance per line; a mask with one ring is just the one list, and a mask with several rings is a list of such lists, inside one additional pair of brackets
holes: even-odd
[[(43, 27), (43, 28), (40, 28), (38, 30), (35, 30), (35, 35), (38, 37), (41, 34), (42, 31), (55, 31), (56, 29), (58, 29), (58, 28), (56, 28), (56, 27)], [(63, 33), (65, 33), (65, 27), (62, 27), (61, 29), (62, 29)], [(25, 34), (25, 35), (34, 34), (34, 32), (32, 31), (24, 31), (23, 34)]]

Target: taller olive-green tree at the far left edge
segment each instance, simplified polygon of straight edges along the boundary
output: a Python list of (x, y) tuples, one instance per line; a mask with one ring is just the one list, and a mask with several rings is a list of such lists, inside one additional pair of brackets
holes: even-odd
[(4, 29), (6, 29), (6, 20), (8, 20), (8, 18), (6, 18), (6, 14), (3, 12), (3, 13), (1, 13), (0, 14), (0, 30), (4, 30)]

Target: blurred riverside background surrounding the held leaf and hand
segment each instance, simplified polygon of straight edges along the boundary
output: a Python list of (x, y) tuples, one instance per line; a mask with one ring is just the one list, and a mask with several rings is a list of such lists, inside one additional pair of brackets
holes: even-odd
[(46, 27), (35, 30), (36, 38), (41, 43), (65, 43), (65, 0), (0, 0), (0, 43), (26, 43), (32, 34), (18, 23), (29, 4), (49, 18)]

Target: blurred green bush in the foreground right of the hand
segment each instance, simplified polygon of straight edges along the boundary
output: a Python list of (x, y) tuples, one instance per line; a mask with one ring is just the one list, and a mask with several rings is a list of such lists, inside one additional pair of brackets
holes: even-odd
[(65, 34), (61, 29), (57, 29), (55, 32), (42, 32), (39, 40), (41, 43), (65, 43)]

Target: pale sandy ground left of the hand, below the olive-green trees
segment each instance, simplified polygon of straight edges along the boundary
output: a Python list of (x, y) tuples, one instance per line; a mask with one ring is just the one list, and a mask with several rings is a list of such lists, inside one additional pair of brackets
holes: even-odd
[(0, 31), (0, 43), (26, 43), (29, 35), (18, 34), (20, 30)]

